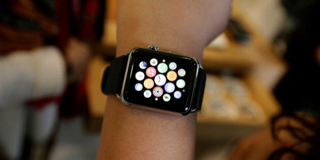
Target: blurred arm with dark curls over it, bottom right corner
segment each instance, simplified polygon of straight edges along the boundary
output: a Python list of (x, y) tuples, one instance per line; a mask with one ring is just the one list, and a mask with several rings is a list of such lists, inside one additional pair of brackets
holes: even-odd
[(308, 113), (282, 113), (261, 131), (240, 140), (230, 160), (311, 159), (317, 156), (312, 153), (318, 150), (317, 124), (317, 118)]

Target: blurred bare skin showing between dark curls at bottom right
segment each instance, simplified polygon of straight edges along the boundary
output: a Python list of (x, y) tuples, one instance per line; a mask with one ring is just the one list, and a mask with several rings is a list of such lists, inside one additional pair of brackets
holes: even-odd
[[(304, 113), (298, 113), (299, 116), (309, 122), (315, 122), (315, 119)], [(289, 118), (280, 118), (276, 126), (292, 126), (301, 129), (307, 136), (312, 136), (315, 133), (301, 124), (301, 122)], [(271, 135), (271, 126), (254, 133), (247, 138), (242, 139), (236, 145), (229, 160), (267, 160), (269, 156), (276, 150), (283, 147), (293, 147), (296, 151), (305, 152), (309, 149), (307, 143), (299, 143), (299, 141), (287, 130), (276, 131), (278, 139), (274, 139)], [(299, 145), (298, 145), (299, 144)], [(285, 154), (281, 159), (295, 159), (292, 154)]]

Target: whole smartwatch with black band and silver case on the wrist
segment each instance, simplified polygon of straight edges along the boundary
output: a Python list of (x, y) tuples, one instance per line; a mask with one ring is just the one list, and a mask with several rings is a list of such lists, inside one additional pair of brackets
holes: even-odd
[(206, 73), (194, 57), (149, 45), (113, 59), (101, 89), (126, 105), (187, 115), (201, 109), (205, 81)]

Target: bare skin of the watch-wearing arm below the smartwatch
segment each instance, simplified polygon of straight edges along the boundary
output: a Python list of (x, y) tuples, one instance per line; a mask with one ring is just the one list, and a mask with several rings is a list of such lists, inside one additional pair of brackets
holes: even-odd
[[(119, 103), (108, 96), (98, 157), (145, 159), (175, 157), (192, 159), (195, 150), (196, 113), (164, 114)], [(170, 158), (171, 159), (171, 158)]]

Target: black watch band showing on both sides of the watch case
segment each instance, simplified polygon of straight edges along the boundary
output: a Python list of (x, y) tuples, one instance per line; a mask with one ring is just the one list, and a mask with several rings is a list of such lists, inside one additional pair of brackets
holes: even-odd
[[(128, 57), (128, 55), (122, 55), (118, 58), (113, 59), (110, 63), (110, 66), (105, 69), (101, 83), (101, 90), (103, 93), (116, 93), (118, 96), (120, 96)], [(195, 112), (201, 109), (205, 82), (206, 73), (203, 68), (200, 67), (196, 83), (196, 96), (191, 103), (191, 112)]]

